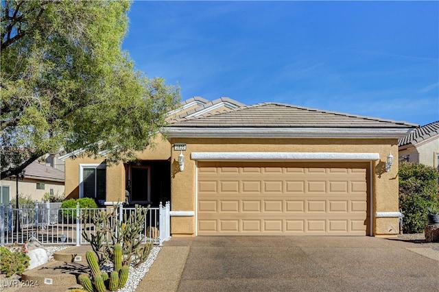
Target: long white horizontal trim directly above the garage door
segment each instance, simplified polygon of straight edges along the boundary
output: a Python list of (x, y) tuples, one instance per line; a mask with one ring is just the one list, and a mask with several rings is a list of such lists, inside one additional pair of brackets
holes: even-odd
[(334, 152), (192, 152), (193, 160), (379, 160), (378, 153)]

